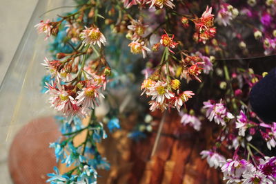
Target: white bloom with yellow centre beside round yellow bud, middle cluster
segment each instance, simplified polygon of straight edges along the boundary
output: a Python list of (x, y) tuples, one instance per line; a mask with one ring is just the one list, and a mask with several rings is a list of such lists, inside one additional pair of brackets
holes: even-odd
[(146, 93), (146, 95), (151, 95), (151, 100), (156, 99), (156, 102), (162, 104), (165, 99), (170, 99), (175, 96), (175, 94), (172, 93), (172, 91), (169, 91), (167, 89), (167, 86), (168, 84), (166, 82), (158, 81), (148, 88), (149, 91), (148, 93)]

